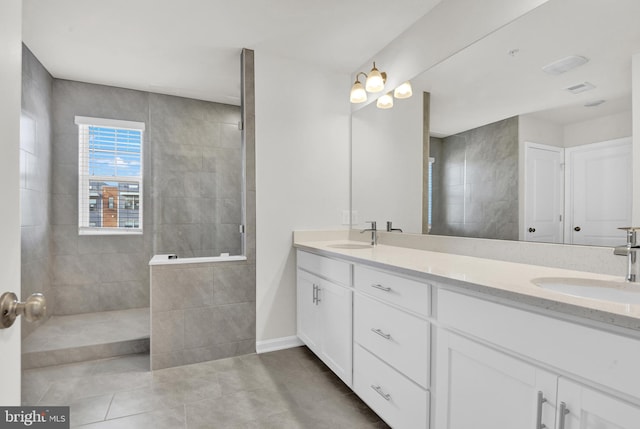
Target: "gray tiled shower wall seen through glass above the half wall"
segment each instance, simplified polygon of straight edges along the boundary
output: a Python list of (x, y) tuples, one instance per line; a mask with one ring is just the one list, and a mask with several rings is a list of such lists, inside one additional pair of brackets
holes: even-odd
[(155, 254), (242, 253), (240, 108), (149, 95)]

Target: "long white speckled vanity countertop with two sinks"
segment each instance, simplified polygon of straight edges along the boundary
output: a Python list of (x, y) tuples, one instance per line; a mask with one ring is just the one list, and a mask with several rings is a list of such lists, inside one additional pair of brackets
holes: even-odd
[[(543, 289), (532, 283), (536, 278), (561, 277), (605, 280), (624, 284), (622, 275), (614, 277), (388, 245), (377, 245), (366, 249), (332, 247), (345, 243), (353, 242), (296, 240), (294, 246), (302, 250), (424, 277), (432, 281), (441, 280), (449, 285), (516, 300), (567, 315), (640, 330), (640, 305), (638, 304), (570, 296)], [(640, 289), (640, 285), (638, 288)]]

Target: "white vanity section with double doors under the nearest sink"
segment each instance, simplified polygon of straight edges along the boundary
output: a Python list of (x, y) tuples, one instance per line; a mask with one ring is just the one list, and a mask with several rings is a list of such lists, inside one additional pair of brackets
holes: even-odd
[(640, 427), (622, 399), (639, 398), (640, 341), (446, 290), (437, 308), (438, 429)]

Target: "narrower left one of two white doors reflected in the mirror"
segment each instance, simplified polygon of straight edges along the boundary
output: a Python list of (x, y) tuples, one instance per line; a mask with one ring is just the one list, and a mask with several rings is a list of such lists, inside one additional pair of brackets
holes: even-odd
[(524, 231), (526, 241), (563, 242), (564, 149), (525, 143)]

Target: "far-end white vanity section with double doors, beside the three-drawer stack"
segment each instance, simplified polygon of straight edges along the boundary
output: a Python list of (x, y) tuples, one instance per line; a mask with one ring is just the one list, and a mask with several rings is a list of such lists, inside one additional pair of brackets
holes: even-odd
[(351, 386), (351, 264), (302, 251), (297, 258), (298, 337)]

